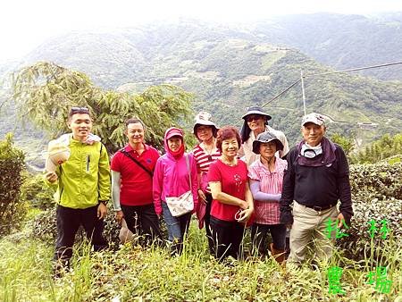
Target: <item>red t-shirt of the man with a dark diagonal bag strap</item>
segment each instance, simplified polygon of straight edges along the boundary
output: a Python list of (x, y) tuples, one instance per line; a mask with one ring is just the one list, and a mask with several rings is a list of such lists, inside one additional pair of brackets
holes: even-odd
[[(154, 172), (159, 152), (154, 147), (146, 144), (144, 146), (145, 150), (141, 155), (138, 155), (130, 145), (124, 149), (150, 172)], [(132, 159), (118, 151), (113, 155), (111, 169), (120, 172), (121, 175), (121, 205), (143, 206), (153, 203), (152, 177)]]

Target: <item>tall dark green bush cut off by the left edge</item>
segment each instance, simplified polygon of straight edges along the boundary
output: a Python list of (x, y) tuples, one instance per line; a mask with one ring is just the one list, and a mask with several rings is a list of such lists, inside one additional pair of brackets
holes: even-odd
[(26, 206), (20, 200), (24, 169), (24, 154), (13, 146), (13, 135), (9, 133), (0, 141), (0, 235), (19, 228), (26, 214)]

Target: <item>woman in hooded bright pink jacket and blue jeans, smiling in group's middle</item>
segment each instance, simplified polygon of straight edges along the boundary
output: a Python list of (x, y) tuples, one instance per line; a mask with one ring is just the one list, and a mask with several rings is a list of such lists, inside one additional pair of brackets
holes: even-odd
[[(192, 213), (178, 217), (172, 216), (166, 204), (166, 197), (180, 197), (181, 194), (191, 190), (194, 200), (193, 212), (196, 211), (198, 205), (197, 164), (193, 155), (184, 153), (183, 131), (179, 128), (172, 127), (166, 130), (164, 133), (164, 149), (166, 154), (159, 157), (155, 166), (153, 179), (154, 206), (158, 216), (163, 214), (169, 241), (172, 242), (172, 253), (180, 255)], [(190, 171), (188, 171), (186, 156), (188, 157)]]

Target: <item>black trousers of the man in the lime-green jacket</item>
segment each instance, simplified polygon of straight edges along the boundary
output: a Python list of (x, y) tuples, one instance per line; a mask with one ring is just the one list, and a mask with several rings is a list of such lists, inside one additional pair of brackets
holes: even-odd
[(72, 256), (72, 245), (80, 225), (83, 226), (88, 240), (99, 251), (108, 246), (103, 237), (103, 219), (97, 218), (97, 206), (86, 209), (71, 209), (70, 207), (57, 206), (57, 239), (55, 243), (54, 260), (61, 261), (67, 266)]

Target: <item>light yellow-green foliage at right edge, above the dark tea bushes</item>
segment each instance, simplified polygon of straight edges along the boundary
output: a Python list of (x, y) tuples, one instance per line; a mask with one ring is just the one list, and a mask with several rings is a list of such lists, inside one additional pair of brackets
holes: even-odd
[(351, 161), (354, 164), (373, 164), (398, 154), (402, 154), (402, 133), (394, 136), (385, 134), (364, 150), (352, 155)]

